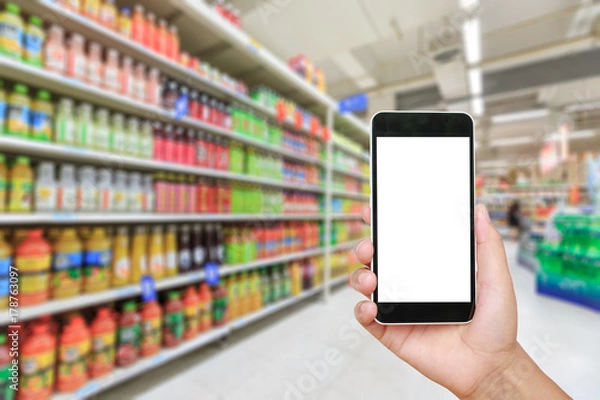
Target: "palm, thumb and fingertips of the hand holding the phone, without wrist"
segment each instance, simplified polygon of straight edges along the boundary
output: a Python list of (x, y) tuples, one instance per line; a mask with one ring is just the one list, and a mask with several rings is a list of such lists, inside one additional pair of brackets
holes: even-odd
[[(470, 324), (385, 326), (373, 318), (367, 324), (361, 321), (394, 354), (459, 396), (470, 394), (517, 346), (516, 300), (502, 239), (495, 229), (481, 225), (477, 229), (479, 298)], [(370, 254), (358, 253), (368, 264), (372, 247)], [(372, 288), (367, 290), (372, 292), (374, 275), (362, 273), (373, 276)]]

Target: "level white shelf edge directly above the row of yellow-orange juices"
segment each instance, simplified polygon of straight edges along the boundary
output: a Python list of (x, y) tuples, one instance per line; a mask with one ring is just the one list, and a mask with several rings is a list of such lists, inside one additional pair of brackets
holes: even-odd
[(312, 221), (323, 214), (0, 213), (0, 225), (151, 224), (175, 222)]

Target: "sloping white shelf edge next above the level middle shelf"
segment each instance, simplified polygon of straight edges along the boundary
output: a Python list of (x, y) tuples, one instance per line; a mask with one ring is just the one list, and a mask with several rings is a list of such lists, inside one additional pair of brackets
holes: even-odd
[(227, 179), (237, 182), (248, 182), (258, 185), (282, 189), (300, 190), (312, 193), (323, 193), (319, 185), (286, 182), (283, 180), (261, 178), (209, 168), (167, 163), (137, 157), (121, 156), (114, 153), (64, 146), (54, 143), (37, 142), (9, 136), (0, 136), (0, 149), (17, 155), (39, 157), (43, 160), (58, 162), (86, 163), (105, 168), (127, 168), (147, 172), (175, 172), (216, 179)]

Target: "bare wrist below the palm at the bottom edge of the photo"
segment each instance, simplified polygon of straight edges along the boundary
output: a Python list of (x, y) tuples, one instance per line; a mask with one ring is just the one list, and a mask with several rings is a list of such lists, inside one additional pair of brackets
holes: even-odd
[(466, 399), (570, 399), (517, 345), (494, 373), (483, 379)]

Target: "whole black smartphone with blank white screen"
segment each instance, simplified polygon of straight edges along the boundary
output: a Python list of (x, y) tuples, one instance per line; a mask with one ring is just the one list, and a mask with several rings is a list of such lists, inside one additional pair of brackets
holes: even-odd
[(381, 324), (460, 324), (475, 313), (474, 124), (382, 111), (371, 134), (371, 267)]

